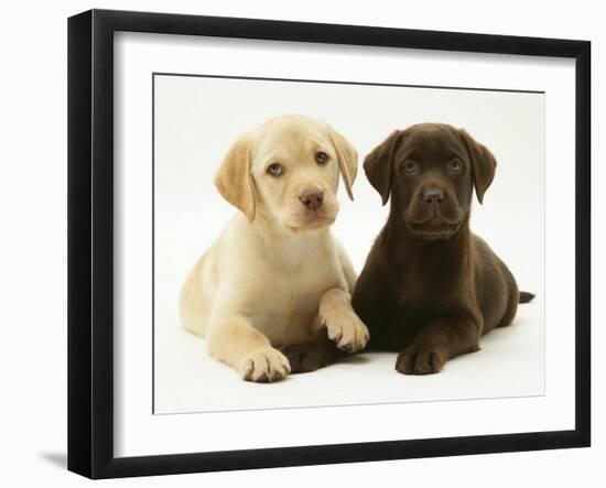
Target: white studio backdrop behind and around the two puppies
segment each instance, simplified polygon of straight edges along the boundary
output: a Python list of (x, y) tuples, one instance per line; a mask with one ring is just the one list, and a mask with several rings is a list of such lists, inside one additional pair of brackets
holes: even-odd
[[(156, 413), (543, 393), (543, 94), (166, 75), (156, 75), (154, 86)], [(333, 226), (358, 272), (389, 210), (364, 174), (364, 155), (412, 123), (467, 129), (498, 161), (484, 206), (474, 199), (472, 227), (537, 300), (519, 308), (515, 326), (487, 336), (480, 354), (421, 380), (398, 375), (394, 354), (366, 355), (271, 388), (244, 383), (209, 359), (204, 341), (183, 329), (178, 291), (236, 212), (213, 185), (224, 154), (240, 133), (281, 113), (325, 119), (359, 151), (355, 202), (342, 184)]]

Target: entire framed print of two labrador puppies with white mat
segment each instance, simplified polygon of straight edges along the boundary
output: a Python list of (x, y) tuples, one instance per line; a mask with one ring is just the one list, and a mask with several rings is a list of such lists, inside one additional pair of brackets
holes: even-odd
[(68, 468), (588, 446), (591, 45), (68, 21)]

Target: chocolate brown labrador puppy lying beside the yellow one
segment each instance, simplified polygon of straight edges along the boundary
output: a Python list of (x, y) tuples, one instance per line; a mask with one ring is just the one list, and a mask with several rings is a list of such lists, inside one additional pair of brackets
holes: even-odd
[(353, 305), (371, 349), (400, 351), (405, 375), (440, 371), (509, 325), (518, 292), (505, 263), (469, 230), (496, 170), (495, 156), (462, 129), (421, 123), (393, 132), (365, 160), (370, 184), (391, 209), (356, 284)]

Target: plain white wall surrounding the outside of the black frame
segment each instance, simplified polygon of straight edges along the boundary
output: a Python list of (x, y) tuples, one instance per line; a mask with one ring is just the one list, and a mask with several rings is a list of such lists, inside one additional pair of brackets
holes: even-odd
[[(3, 401), (0, 404), (0, 427), (3, 432), (0, 454), (6, 459), (2, 481), (11, 486), (45, 484), (76, 487), (93, 485), (65, 471), (66, 452), (66, 17), (82, 10), (122, 8), (195, 14), (260, 17), (315, 22), (389, 25), (589, 39), (593, 45), (593, 155), (594, 208), (604, 215), (604, 172), (597, 172), (598, 148), (603, 143), (606, 99), (596, 97), (597, 86), (605, 79), (606, 33), (599, 4), (588, 0), (574, 8), (553, 2), (511, 0), (487, 6), (479, 0), (407, 4), (377, 0), (350, 3), (309, 0), (274, 2), (225, 0), (217, 3), (174, 0), (169, 7), (158, 0), (123, 0), (120, 3), (98, 0), (83, 2), (28, 1), (6, 6), (11, 19), (0, 31), (6, 75), (0, 78), (0, 127), (2, 139), (0, 208), (3, 236), (0, 242), (2, 269), (0, 290), (6, 297), (0, 308), (3, 340), (0, 343), (0, 366)], [(523, 15), (520, 12), (523, 11)], [(28, 19), (24, 35), (23, 20)], [(42, 76), (43, 74), (43, 76)], [(599, 208), (597, 208), (599, 207)], [(594, 238), (604, 247), (604, 219), (594, 218)], [(604, 322), (604, 301), (595, 299), (604, 292), (606, 268), (596, 256), (597, 289), (594, 289), (596, 314), (594, 324)], [(37, 270), (32, 281), (32, 270)], [(32, 283), (35, 283), (32, 286)], [(34, 299), (33, 299), (34, 297)], [(594, 344), (604, 334), (594, 327)], [(597, 349), (594, 347), (594, 350)], [(606, 360), (594, 354), (594, 411), (604, 409)], [(596, 380), (597, 378), (597, 380)], [(217, 473), (107, 481), (107, 486), (242, 486), (304, 487), (339, 482), (362, 487), (378, 479), (408, 485), (453, 484), (484, 487), (571, 486), (580, 481), (598, 485), (604, 480), (603, 458), (606, 454), (605, 423), (594, 419), (594, 447), (534, 453), (511, 453), (452, 458), (359, 463), (349, 465), (282, 468), (255, 471)]]

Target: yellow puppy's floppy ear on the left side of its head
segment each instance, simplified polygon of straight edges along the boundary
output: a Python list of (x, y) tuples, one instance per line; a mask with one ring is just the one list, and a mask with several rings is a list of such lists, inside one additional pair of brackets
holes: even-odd
[(251, 174), (252, 141), (248, 135), (241, 135), (231, 145), (223, 160), (217, 174), (215, 186), (223, 197), (239, 208), (247, 218), (255, 220), (255, 182)]

